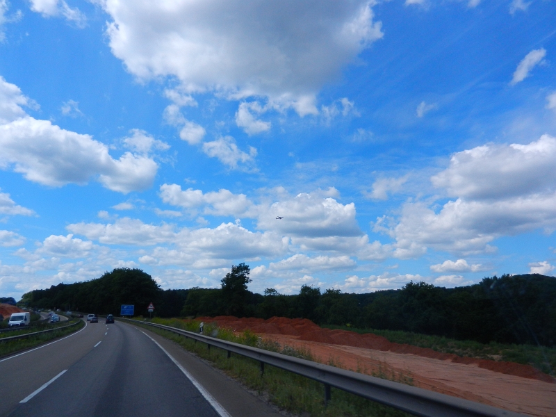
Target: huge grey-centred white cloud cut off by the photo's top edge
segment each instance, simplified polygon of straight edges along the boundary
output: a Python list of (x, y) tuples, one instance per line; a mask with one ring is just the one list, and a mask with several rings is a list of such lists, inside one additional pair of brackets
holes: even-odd
[[(176, 77), (182, 94), (268, 97), (300, 115), (382, 38), (370, 1), (103, 1), (113, 54), (140, 79)], [(172, 98), (175, 101), (176, 99)]]

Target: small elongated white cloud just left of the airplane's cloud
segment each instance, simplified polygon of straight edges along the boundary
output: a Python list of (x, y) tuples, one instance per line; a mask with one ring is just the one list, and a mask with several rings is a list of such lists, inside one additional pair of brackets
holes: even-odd
[(193, 188), (183, 191), (177, 184), (163, 184), (160, 189), (161, 199), (166, 204), (189, 209), (204, 207), (206, 214), (245, 217), (252, 206), (245, 194), (233, 194), (226, 189), (205, 194)]

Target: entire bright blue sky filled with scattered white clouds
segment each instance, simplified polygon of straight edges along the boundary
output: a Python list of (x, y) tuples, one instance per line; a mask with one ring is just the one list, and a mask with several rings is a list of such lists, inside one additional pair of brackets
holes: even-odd
[(0, 0), (0, 40), (2, 296), (556, 274), (554, 0)]

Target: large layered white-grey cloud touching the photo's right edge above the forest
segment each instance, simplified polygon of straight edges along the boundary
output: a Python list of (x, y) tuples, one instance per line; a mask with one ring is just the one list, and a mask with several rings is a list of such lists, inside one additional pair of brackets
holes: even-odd
[[(556, 138), (528, 145), (484, 145), (454, 154), (432, 177), (434, 186), (457, 197), (440, 208), (407, 202), (398, 220), (375, 222), (396, 247), (433, 247), (454, 253), (493, 250), (500, 236), (556, 229)], [(423, 252), (424, 253), (424, 252)]]

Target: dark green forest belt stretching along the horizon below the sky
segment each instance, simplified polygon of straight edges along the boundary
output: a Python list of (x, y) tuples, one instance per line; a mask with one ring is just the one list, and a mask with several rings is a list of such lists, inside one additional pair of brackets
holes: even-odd
[(99, 314), (117, 314), (120, 304), (134, 304), (137, 315), (147, 316), (153, 302), (159, 317), (283, 316), (482, 343), (556, 345), (555, 277), (502, 275), (457, 288), (409, 282), (399, 290), (366, 294), (302, 286), (297, 295), (281, 295), (273, 288), (261, 295), (249, 291), (250, 282), (245, 263), (232, 266), (220, 288), (173, 290), (161, 289), (142, 270), (118, 268), (91, 281), (31, 291), (18, 304)]

